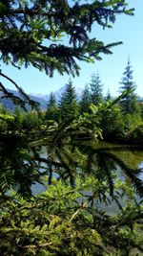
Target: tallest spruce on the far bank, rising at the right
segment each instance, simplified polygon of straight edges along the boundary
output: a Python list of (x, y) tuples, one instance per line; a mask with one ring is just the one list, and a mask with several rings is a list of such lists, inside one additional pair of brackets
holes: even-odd
[(123, 73), (122, 81), (120, 82), (120, 91), (131, 90), (129, 94), (126, 94), (124, 99), (121, 100), (120, 105), (125, 114), (133, 114), (139, 112), (139, 105), (137, 103), (137, 97), (134, 93), (136, 88), (135, 82), (133, 81), (133, 69), (130, 58), (128, 59), (127, 66)]

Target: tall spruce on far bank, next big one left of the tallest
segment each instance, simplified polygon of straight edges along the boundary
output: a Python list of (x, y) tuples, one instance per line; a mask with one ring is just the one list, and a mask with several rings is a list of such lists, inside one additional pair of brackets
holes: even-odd
[(92, 80), (90, 82), (91, 94), (92, 94), (92, 104), (99, 105), (103, 102), (103, 95), (102, 95), (102, 83), (100, 81), (99, 74), (96, 75), (92, 74)]

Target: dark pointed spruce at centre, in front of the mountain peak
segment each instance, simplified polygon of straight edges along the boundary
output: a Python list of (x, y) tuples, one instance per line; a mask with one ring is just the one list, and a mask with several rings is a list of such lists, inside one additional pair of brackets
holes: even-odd
[(66, 84), (66, 89), (61, 95), (59, 102), (61, 120), (75, 118), (78, 114), (78, 103), (75, 88), (72, 85), (72, 80)]

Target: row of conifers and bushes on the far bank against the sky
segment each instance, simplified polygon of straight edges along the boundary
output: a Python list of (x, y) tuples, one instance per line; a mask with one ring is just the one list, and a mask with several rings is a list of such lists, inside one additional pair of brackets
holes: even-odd
[[(51, 92), (44, 118), (61, 122), (62, 120), (79, 118), (81, 114), (92, 113), (92, 106), (98, 108), (98, 122), (103, 138), (108, 141), (142, 142), (143, 135), (143, 103), (135, 94), (133, 69), (130, 60), (120, 81), (119, 93), (124, 94), (116, 104), (110, 91), (103, 96), (103, 84), (99, 74), (92, 74), (91, 81), (85, 86), (82, 98), (77, 99), (72, 81), (68, 81), (66, 89), (56, 102)], [(107, 107), (110, 105), (110, 107)]]

